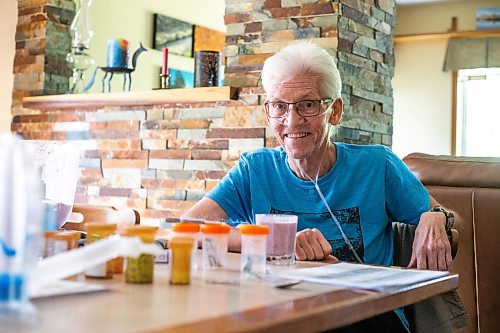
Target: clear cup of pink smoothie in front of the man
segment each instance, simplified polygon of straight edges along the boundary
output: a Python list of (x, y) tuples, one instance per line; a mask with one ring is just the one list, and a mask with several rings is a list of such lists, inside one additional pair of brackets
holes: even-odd
[(256, 214), (257, 225), (269, 227), (267, 262), (273, 265), (295, 264), (296, 215)]

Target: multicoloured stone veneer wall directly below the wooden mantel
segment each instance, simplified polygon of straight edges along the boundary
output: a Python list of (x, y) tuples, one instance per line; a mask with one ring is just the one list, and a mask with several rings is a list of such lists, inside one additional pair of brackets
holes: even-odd
[(179, 217), (210, 191), (243, 151), (265, 145), (265, 119), (238, 101), (66, 109), (13, 118), (29, 140), (70, 140), (82, 149), (75, 202), (132, 207), (141, 221)]

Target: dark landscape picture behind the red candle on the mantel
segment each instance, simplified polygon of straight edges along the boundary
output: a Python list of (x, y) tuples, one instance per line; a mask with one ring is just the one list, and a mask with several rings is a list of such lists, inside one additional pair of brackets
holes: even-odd
[(193, 57), (193, 24), (161, 14), (154, 14), (153, 22), (154, 49), (168, 47), (169, 53)]

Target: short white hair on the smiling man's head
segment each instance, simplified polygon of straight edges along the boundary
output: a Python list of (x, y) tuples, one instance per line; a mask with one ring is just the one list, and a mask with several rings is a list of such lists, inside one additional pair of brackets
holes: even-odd
[(269, 95), (273, 86), (295, 75), (319, 77), (320, 98), (340, 98), (342, 81), (333, 57), (323, 48), (307, 42), (289, 45), (269, 57), (262, 68), (262, 87)]

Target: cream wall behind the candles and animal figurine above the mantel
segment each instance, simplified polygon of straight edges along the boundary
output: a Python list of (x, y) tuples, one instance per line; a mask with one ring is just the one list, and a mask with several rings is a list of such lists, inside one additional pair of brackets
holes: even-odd
[[(226, 31), (224, 25), (224, 0), (94, 0), (92, 18), (94, 37), (90, 54), (95, 65), (106, 65), (106, 46), (110, 38), (129, 41), (130, 57), (139, 42), (148, 48), (139, 57), (137, 71), (132, 74), (132, 90), (144, 91), (157, 88), (162, 63), (161, 51), (151, 49), (153, 38), (153, 14), (168, 15), (178, 20), (200, 25), (217, 31)], [(193, 58), (169, 55), (169, 67), (193, 72)], [(93, 69), (88, 73), (91, 76)], [(103, 72), (97, 74), (92, 92), (101, 91)], [(111, 90), (121, 91), (123, 76), (115, 76)]]

